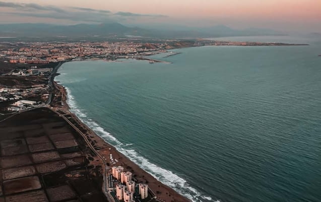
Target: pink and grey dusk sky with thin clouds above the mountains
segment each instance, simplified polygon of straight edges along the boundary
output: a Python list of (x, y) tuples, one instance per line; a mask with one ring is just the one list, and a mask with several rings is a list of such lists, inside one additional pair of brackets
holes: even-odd
[(0, 23), (177, 25), (321, 32), (321, 0), (0, 0)]

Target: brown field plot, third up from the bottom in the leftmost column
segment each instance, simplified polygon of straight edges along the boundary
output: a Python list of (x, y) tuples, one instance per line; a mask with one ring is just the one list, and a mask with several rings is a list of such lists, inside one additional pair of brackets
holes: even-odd
[(19, 177), (26, 177), (35, 175), (36, 170), (33, 166), (24, 166), (24, 167), (18, 167), (18, 168), (8, 168), (2, 170), (2, 178), (3, 180), (9, 180)]

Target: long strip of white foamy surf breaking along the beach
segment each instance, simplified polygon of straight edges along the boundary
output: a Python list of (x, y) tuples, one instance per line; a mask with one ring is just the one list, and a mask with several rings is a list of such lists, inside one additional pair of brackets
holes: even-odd
[[(99, 124), (93, 121), (91, 118), (87, 117), (87, 113), (84, 110), (78, 108), (75, 97), (71, 94), (71, 90), (66, 87), (66, 91), (68, 94), (67, 103), (71, 108), (70, 111), (83, 122), (88, 127), (90, 127), (94, 132), (96, 132), (100, 137), (102, 137), (106, 142), (115, 146), (115, 148), (125, 155), (127, 158), (132, 160), (134, 163), (139, 165), (142, 169), (146, 172), (151, 174), (157, 180), (161, 181), (162, 183), (166, 184), (167, 186), (172, 187), (178, 193), (182, 194), (183, 196), (189, 198), (192, 201), (213, 201), (210, 196), (205, 196), (200, 193), (195, 188), (191, 187), (186, 180), (179, 177), (178, 175), (174, 174), (172, 171), (163, 169), (151, 162), (149, 162), (146, 158), (141, 156), (135, 149), (125, 148), (133, 143), (123, 144), (110, 133), (105, 131)], [(221, 201), (216, 201), (221, 202)]]

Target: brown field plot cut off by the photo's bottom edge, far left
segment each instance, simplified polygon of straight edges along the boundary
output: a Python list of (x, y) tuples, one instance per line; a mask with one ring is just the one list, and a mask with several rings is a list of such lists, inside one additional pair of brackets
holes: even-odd
[(6, 202), (48, 202), (43, 190), (6, 196)]

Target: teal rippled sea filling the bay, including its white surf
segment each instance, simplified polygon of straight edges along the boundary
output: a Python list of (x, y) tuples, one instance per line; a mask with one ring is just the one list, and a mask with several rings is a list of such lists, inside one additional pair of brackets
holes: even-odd
[(217, 40), (137, 60), (63, 64), (85, 124), (192, 201), (321, 201), (321, 38)]

